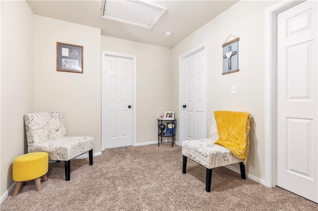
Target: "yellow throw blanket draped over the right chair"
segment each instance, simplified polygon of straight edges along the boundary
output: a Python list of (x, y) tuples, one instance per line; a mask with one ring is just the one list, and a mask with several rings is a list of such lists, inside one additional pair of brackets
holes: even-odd
[(228, 148), (232, 154), (246, 164), (252, 116), (247, 112), (214, 111), (219, 139), (214, 143)]

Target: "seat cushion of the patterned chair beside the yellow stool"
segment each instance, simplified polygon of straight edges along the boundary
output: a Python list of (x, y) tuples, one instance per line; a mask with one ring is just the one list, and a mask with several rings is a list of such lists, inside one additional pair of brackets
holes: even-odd
[(50, 160), (70, 160), (94, 148), (92, 137), (66, 136), (28, 147), (28, 153), (47, 152)]

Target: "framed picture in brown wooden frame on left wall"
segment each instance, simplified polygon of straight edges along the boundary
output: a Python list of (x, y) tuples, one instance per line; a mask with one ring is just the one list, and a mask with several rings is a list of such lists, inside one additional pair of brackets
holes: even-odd
[(83, 73), (83, 47), (56, 42), (56, 70), (62, 72)]

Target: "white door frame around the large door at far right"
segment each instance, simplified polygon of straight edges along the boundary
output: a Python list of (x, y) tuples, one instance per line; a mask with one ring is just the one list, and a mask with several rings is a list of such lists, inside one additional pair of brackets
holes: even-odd
[(265, 185), (276, 186), (276, 21), (277, 14), (305, 0), (284, 0), (265, 9), (265, 95), (264, 95), (264, 146)]

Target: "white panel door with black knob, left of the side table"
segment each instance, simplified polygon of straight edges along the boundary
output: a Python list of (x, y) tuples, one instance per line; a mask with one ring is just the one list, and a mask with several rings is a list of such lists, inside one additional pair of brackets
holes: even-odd
[(104, 55), (105, 148), (132, 145), (132, 59)]

